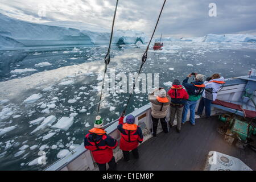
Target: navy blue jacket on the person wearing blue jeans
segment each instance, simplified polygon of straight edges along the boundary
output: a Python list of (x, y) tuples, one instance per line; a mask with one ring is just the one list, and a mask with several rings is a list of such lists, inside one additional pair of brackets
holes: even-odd
[(183, 80), (182, 85), (188, 92), (189, 101), (197, 101), (200, 99), (204, 91), (204, 82), (203, 81), (193, 81), (191, 84), (188, 83), (188, 77)]

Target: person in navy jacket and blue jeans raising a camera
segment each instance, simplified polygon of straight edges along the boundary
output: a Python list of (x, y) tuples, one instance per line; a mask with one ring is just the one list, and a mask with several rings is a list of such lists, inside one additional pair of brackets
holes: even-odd
[[(192, 76), (195, 76), (195, 81), (188, 83), (188, 79)], [(185, 80), (183, 80), (182, 85), (188, 92), (188, 100), (184, 105), (183, 113), (182, 113), (182, 123), (184, 124), (187, 120), (188, 110), (190, 110), (190, 117), (189, 121), (191, 125), (195, 126), (195, 109), (197, 101), (200, 99), (205, 85), (204, 85), (204, 75), (197, 74), (197, 73), (190, 73)]]

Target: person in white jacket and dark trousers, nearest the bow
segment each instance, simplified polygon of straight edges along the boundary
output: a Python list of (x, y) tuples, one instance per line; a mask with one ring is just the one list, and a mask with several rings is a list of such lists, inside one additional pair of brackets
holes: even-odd
[(217, 93), (220, 91), (222, 84), (225, 84), (224, 77), (221, 77), (218, 73), (215, 73), (211, 77), (207, 78), (207, 81), (204, 82), (205, 90), (202, 94), (196, 114), (202, 117), (205, 107), (206, 118), (210, 118), (210, 106), (212, 102), (216, 100)]

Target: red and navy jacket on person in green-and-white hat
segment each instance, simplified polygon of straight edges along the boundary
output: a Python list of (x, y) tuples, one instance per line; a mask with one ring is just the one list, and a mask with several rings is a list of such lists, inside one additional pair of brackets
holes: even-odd
[(96, 163), (105, 164), (113, 158), (113, 149), (117, 140), (106, 134), (102, 129), (93, 128), (84, 138), (84, 147), (92, 151)]

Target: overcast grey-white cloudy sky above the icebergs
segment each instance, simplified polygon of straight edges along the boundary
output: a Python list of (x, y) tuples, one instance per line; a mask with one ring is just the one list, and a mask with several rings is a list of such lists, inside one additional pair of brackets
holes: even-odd
[[(141, 30), (150, 35), (163, 2), (119, 0), (115, 30)], [(216, 3), (216, 17), (208, 14), (209, 3)], [(0, 13), (31, 22), (84, 22), (105, 27), (110, 31), (114, 6), (115, 0), (1, 0)], [(167, 0), (156, 35), (256, 35), (255, 9), (255, 0)]]

